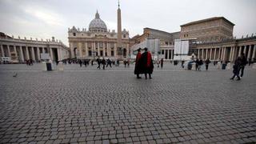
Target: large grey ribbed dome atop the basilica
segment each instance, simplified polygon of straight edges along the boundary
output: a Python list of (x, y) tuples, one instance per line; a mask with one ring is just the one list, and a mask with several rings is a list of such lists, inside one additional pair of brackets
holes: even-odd
[(106, 32), (107, 31), (106, 24), (105, 24), (105, 22), (102, 21), (101, 18), (99, 18), (98, 11), (95, 14), (95, 18), (90, 22), (89, 31), (93, 31), (93, 32)]

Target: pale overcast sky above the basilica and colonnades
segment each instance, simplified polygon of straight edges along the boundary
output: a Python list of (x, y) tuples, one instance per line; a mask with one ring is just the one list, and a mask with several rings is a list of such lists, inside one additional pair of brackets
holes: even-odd
[[(255, 0), (120, 0), (122, 29), (130, 38), (144, 27), (176, 32), (187, 22), (224, 16), (234, 36), (256, 34)], [(0, 31), (22, 38), (51, 38), (67, 46), (71, 26), (86, 28), (96, 10), (110, 30), (117, 29), (118, 0), (0, 0)]]

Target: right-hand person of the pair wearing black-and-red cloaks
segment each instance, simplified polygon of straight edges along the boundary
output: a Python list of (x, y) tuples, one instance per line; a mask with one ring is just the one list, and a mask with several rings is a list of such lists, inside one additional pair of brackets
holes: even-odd
[(154, 65), (152, 56), (149, 51), (147, 51), (147, 48), (144, 48), (145, 52), (142, 54), (142, 73), (145, 74), (145, 78), (147, 78), (147, 74), (149, 74), (150, 79), (151, 74), (153, 73)]

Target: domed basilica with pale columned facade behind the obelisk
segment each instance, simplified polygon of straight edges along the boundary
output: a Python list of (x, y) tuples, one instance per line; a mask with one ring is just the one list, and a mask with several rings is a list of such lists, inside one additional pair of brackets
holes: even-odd
[(118, 33), (115, 30), (107, 30), (105, 22), (102, 21), (97, 11), (95, 18), (90, 22), (89, 30), (86, 28), (80, 30), (75, 26), (69, 28), (71, 58), (94, 59), (98, 56), (120, 58), (118, 44), (122, 46), (122, 58), (129, 58), (129, 31), (123, 29), (120, 36), (122, 37), (121, 44), (118, 43)]

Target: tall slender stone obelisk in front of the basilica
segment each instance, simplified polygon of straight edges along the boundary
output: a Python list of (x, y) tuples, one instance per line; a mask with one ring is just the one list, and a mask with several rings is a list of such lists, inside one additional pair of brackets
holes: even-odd
[(118, 0), (118, 59), (122, 59), (122, 22), (121, 22), (121, 10), (120, 3)]

